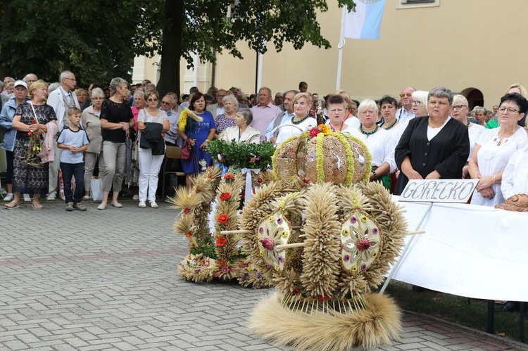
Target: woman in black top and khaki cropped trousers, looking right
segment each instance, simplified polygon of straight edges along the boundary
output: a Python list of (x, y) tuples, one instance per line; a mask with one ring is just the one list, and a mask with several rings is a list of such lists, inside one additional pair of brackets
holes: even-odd
[(101, 135), (103, 136), (104, 172), (103, 200), (98, 210), (106, 210), (108, 194), (112, 194), (112, 206), (122, 208), (118, 202), (122, 181), (125, 177), (126, 137), (134, 126), (134, 115), (128, 104), (128, 84), (125, 79), (113, 78), (110, 82), (112, 97), (101, 105)]

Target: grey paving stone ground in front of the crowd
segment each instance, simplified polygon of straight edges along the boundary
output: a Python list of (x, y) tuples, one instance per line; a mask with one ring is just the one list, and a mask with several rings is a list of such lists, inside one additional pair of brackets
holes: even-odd
[[(271, 289), (178, 277), (187, 243), (170, 205), (87, 207), (1, 208), (0, 350), (288, 350), (246, 329)], [(379, 350), (528, 350), (415, 314), (403, 325)]]

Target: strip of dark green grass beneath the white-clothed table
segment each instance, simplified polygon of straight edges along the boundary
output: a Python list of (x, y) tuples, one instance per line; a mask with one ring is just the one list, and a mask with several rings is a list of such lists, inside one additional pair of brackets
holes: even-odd
[[(402, 309), (486, 331), (488, 301), (468, 299), (438, 291), (413, 291), (408, 283), (391, 281), (386, 288)], [(495, 334), (519, 341), (519, 312), (495, 311)], [(527, 321), (525, 320), (525, 323)]]

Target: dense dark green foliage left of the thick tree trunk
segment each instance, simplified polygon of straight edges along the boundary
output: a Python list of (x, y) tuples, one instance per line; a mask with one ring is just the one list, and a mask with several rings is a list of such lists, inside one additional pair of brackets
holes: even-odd
[[(145, 4), (149, 4), (145, 7)], [(130, 79), (134, 56), (153, 54), (163, 0), (4, 0), (0, 76), (50, 82), (65, 69), (79, 85)]]

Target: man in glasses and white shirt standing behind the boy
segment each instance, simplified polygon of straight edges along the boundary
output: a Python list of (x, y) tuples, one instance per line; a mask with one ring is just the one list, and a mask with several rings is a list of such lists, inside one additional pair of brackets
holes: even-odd
[[(57, 127), (58, 134), (61, 133), (64, 127), (68, 127), (68, 108), (76, 107), (80, 108), (79, 101), (77, 101), (77, 95), (73, 94), (75, 88), (77, 88), (77, 80), (75, 75), (66, 70), (61, 73), (60, 77), (61, 86), (51, 91), (46, 102), (49, 106), (54, 108), (55, 114), (57, 115)], [(57, 197), (57, 185), (58, 185), (58, 167), (61, 164), (59, 158), (61, 158), (62, 150), (57, 147), (57, 139), (54, 140), (55, 148), (55, 159), (49, 165), (49, 193), (48, 200), (55, 200)]]

